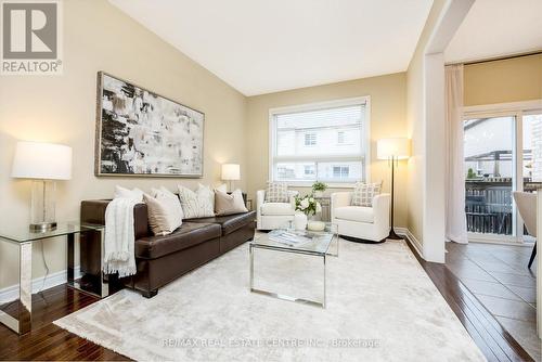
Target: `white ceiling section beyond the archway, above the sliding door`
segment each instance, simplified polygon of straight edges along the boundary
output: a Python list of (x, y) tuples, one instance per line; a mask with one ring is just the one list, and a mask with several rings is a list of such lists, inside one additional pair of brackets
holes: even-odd
[(542, 49), (542, 0), (476, 0), (444, 52), (463, 62)]

